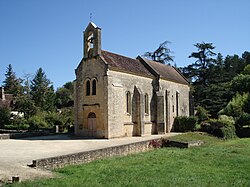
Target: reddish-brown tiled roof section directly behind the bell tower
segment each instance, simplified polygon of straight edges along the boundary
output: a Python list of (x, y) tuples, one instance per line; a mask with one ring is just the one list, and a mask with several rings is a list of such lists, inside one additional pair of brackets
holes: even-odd
[(103, 50), (101, 54), (111, 69), (114, 68), (116, 70), (142, 76), (153, 76), (138, 59), (132, 59)]

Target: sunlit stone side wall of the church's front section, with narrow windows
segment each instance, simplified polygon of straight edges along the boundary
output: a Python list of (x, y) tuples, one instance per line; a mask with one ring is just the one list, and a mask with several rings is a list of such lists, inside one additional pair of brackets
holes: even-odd
[[(110, 137), (123, 137), (133, 135), (148, 135), (152, 134), (150, 125), (148, 125), (146, 131), (137, 132), (135, 124), (137, 124), (136, 116), (136, 89), (138, 90), (137, 96), (140, 103), (140, 123), (152, 122), (155, 119), (155, 108), (153, 98), (153, 78), (142, 77), (138, 75), (128, 74), (125, 72), (118, 72), (114, 70), (108, 71), (108, 121)], [(126, 93), (131, 94), (131, 109), (130, 113), (126, 111)], [(145, 94), (148, 96), (148, 108), (149, 111), (145, 114)], [(134, 119), (133, 119), (134, 118)], [(140, 124), (142, 125), (142, 124)], [(144, 126), (144, 125), (142, 125)], [(152, 127), (152, 125), (151, 125)]]

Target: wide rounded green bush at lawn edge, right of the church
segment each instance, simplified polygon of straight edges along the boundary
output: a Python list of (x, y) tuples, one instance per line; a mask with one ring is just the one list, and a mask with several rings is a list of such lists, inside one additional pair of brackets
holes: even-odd
[(235, 138), (234, 121), (230, 117), (221, 117), (219, 119), (210, 119), (201, 124), (201, 131), (210, 133), (214, 136), (224, 139)]

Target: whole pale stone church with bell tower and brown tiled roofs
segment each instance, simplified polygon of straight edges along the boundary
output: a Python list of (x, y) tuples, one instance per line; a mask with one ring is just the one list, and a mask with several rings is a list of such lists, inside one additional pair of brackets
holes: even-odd
[(96, 138), (169, 133), (189, 116), (189, 82), (174, 67), (101, 49), (101, 29), (84, 31), (75, 70), (75, 135)]

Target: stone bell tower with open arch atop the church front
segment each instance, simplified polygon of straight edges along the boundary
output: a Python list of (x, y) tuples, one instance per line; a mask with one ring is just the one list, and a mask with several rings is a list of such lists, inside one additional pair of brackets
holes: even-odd
[(84, 58), (101, 54), (101, 28), (90, 22), (84, 31)]

